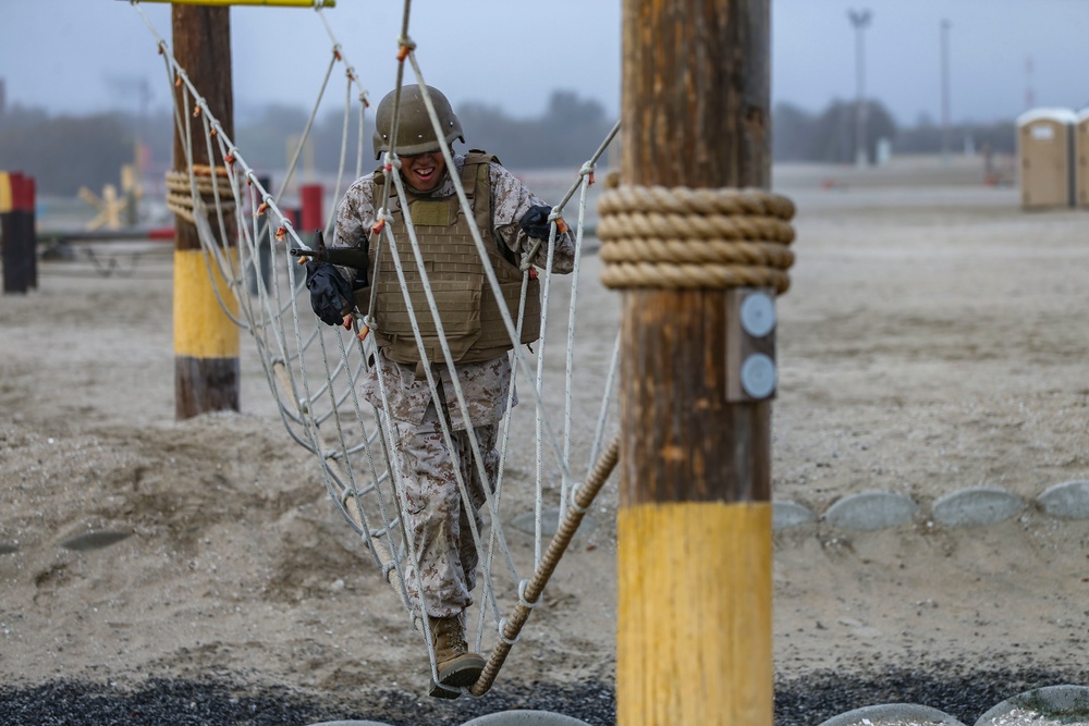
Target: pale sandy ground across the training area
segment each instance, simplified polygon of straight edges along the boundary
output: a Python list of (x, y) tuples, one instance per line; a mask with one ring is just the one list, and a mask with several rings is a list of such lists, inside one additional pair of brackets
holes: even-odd
[[(969, 487), (1031, 502), (1089, 479), (1089, 213), (1026, 213), (975, 161), (775, 174), (799, 213), (779, 304), (774, 496), (818, 513), (873, 490), (920, 504), (891, 530), (775, 536), (776, 687), (935, 663), (951, 677), (1008, 669), (1001, 698), (1019, 692), (1018, 669), (1086, 682), (1089, 521), (1030, 504), (949, 529), (928, 512)], [(124, 269), (120, 249), (100, 251)], [(174, 420), (170, 260), (144, 254), (110, 276), (82, 257), (42, 262), (37, 292), (0, 300), (0, 680), (421, 693), (419, 636), (287, 438), (245, 340), (243, 413)], [(582, 456), (617, 324), (598, 264), (587, 258), (579, 290)], [(531, 503), (516, 492), (533, 445), (516, 450), (509, 517)], [(611, 485), (499, 684), (612, 682), (614, 514)], [(99, 530), (132, 537), (60, 546)], [(506, 532), (528, 557), (529, 536)]]

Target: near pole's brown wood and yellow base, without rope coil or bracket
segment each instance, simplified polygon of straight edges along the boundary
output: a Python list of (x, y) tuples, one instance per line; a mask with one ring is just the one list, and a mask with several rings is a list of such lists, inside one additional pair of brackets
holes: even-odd
[[(622, 184), (770, 185), (769, 28), (770, 0), (624, 0)], [(771, 405), (727, 403), (727, 297), (623, 293), (623, 726), (772, 724)]]

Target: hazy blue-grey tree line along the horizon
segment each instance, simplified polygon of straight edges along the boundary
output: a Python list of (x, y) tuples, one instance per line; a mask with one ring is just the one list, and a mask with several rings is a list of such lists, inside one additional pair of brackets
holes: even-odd
[[(484, 148), (511, 169), (577, 169), (604, 139), (615, 123), (601, 103), (570, 90), (555, 90), (536, 118), (515, 118), (503, 109), (467, 102), (456, 109), (465, 132), (466, 148)], [(823, 111), (810, 112), (779, 103), (772, 113), (772, 149), (775, 161), (851, 163), (855, 159), (853, 101), (832, 101)], [(270, 104), (235, 124), (235, 141), (258, 173), (286, 168), (308, 112), (302, 108)], [(356, 120), (357, 123), (357, 120)], [(319, 115), (303, 163), (321, 173), (335, 173), (343, 134), (343, 110)], [(174, 115), (172, 112), (139, 116), (131, 112), (90, 115), (51, 115), (44, 110), (11, 104), (0, 109), (0, 169), (33, 175), (39, 194), (70, 196), (81, 186), (99, 190), (117, 185), (122, 164), (134, 162), (137, 141), (150, 158), (149, 173), (161, 174), (172, 165)], [(352, 128), (348, 138), (357, 138)], [(365, 121), (364, 172), (376, 165), (370, 134), (374, 116)], [(914, 126), (898, 127), (879, 101), (867, 107), (866, 149), (871, 159), (880, 139), (894, 153), (934, 153), (943, 144), (960, 150), (966, 140), (976, 148), (989, 144), (995, 152), (1015, 150), (1014, 122), (957, 124), (943, 130), (926, 118)], [(348, 169), (354, 169), (354, 147)]]

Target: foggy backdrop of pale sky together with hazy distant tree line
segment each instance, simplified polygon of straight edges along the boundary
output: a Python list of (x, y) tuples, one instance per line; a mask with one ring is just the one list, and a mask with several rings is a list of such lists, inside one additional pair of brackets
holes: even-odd
[[(169, 44), (170, 7), (139, 7)], [(408, 34), (426, 81), (449, 96), (468, 143), (509, 165), (577, 164), (619, 116), (619, 0), (411, 7)], [(771, 0), (771, 9), (780, 160), (849, 162), (860, 79), (871, 157), (880, 138), (898, 153), (934, 151), (946, 120), (952, 133), (944, 138), (955, 148), (986, 141), (1001, 151), (1012, 147), (1013, 121), (1028, 108), (1089, 104), (1082, 0)], [(849, 11), (869, 11), (871, 20), (856, 29)], [(284, 165), (331, 57), (322, 16), (377, 103), (395, 82), (402, 13), (391, 0), (338, 0), (321, 14), (233, 8), (235, 140), (247, 160)], [(42, 189), (68, 194), (115, 180), (134, 139), (157, 165), (169, 163), (164, 64), (129, 2), (3, 2), (0, 79), (0, 168), (25, 168)], [(308, 157), (317, 169), (334, 163), (344, 97), (338, 65)]]

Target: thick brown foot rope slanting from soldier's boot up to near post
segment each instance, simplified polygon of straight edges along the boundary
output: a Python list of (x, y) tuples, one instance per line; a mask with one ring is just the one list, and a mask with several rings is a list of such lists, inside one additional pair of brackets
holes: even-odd
[(491, 655), (488, 656), (488, 663), (485, 665), (484, 672), (481, 672), (480, 677), (469, 688), (469, 693), (473, 696), (484, 696), (491, 688), (492, 684), (495, 682), (495, 676), (499, 675), (499, 669), (503, 667), (506, 655), (511, 652), (511, 645), (514, 644), (518, 633), (522, 632), (522, 626), (529, 619), (529, 613), (533, 612), (534, 606), (540, 601), (544, 586), (548, 585), (549, 578), (552, 577), (555, 566), (560, 563), (560, 557), (563, 556), (563, 553), (567, 550), (567, 545), (571, 544), (571, 540), (575, 537), (578, 526), (583, 524), (583, 516), (586, 514), (586, 509), (594, 502), (594, 497), (598, 495), (598, 492), (601, 491), (601, 487), (609, 479), (612, 470), (616, 468), (616, 462), (619, 460), (620, 435), (616, 435), (609, 442), (609, 446), (601, 454), (601, 457), (598, 458), (597, 464), (594, 465), (594, 470), (587, 478), (586, 483), (575, 490), (573, 506), (568, 507), (567, 514), (564, 516), (563, 521), (560, 522), (560, 529), (549, 542), (544, 556), (541, 557), (540, 566), (538, 566), (537, 571), (534, 573), (525, 590), (521, 593), (522, 596), (514, 611), (514, 615), (503, 624), (502, 638), (495, 643)]

